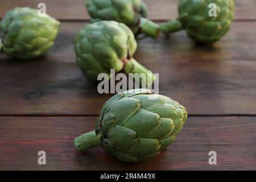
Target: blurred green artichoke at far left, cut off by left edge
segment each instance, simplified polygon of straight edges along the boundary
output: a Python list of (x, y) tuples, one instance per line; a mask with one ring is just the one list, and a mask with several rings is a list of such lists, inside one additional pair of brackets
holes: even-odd
[(0, 51), (18, 59), (43, 55), (53, 46), (60, 22), (51, 16), (38, 15), (38, 10), (16, 7), (0, 23)]

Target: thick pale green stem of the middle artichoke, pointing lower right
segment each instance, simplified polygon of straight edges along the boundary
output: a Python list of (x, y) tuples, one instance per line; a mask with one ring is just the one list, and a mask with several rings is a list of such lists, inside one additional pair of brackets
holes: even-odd
[(135, 81), (139, 83), (139, 85), (143, 86), (143, 88), (152, 85), (152, 83), (155, 81), (155, 75), (149, 69), (143, 67), (143, 65), (139, 64), (133, 58), (131, 58), (126, 63), (124, 70), (126, 75), (132, 73), (132, 78), (134, 78)]

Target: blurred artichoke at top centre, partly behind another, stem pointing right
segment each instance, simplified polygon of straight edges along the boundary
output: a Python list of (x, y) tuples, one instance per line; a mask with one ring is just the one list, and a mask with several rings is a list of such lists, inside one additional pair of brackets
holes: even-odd
[(89, 0), (86, 8), (91, 22), (115, 20), (126, 24), (135, 35), (140, 32), (158, 38), (160, 26), (147, 19), (147, 6), (142, 0)]

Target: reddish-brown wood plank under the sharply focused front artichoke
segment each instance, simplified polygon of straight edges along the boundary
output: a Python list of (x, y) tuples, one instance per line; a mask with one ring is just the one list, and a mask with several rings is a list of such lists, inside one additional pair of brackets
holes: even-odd
[[(189, 117), (167, 150), (151, 160), (119, 162), (101, 147), (78, 152), (73, 139), (92, 130), (96, 117), (0, 117), (3, 170), (255, 170), (255, 117)], [(46, 151), (47, 165), (38, 165)], [(217, 152), (217, 165), (208, 152)]]

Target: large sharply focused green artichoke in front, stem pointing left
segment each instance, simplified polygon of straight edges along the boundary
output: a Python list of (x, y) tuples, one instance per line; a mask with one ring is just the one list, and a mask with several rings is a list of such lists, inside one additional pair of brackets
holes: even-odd
[(96, 128), (75, 139), (80, 151), (102, 146), (124, 162), (158, 155), (174, 142), (187, 119), (187, 110), (148, 89), (118, 93), (103, 106)]

